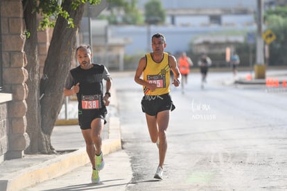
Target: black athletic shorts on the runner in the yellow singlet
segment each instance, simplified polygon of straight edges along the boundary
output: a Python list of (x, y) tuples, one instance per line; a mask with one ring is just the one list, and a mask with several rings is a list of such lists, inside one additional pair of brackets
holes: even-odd
[(163, 110), (174, 110), (175, 106), (171, 101), (170, 94), (162, 95), (144, 95), (141, 99), (141, 110), (151, 116), (157, 116), (157, 113)]

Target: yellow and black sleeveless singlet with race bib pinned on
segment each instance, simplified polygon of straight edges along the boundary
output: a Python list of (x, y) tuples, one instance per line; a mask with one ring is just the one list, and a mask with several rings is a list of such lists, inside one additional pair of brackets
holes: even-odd
[(146, 68), (143, 70), (143, 80), (148, 83), (157, 84), (154, 91), (143, 85), (143, 92), (146, 95), (162, 95), (170, 92), (170, 66), (168, 53), (164, 52), (164, 58), (160, 63), (156, 63), (150, 53), (146, 53)]

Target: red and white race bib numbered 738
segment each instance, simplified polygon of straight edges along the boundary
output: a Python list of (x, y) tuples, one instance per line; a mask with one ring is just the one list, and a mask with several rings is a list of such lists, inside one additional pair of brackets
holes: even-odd
[(93, 110), (101, 108), (101, 95), (82, 95), (82, 109)]

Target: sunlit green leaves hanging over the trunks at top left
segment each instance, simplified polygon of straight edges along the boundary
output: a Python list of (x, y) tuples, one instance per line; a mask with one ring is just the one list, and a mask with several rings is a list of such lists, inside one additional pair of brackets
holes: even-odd
[[(34, 0), (34, 11), (43, 17), (40, 21), (38, 30), (44, 30), (44, 28), (53, 28), (59, 16), (67, 20), (68, 27), (74, 27), (73, 19), (70, 17), (66, 10), (63, 10), (60, 2), (60, 0)], [(96, 5), (101, 3), (101, 0), (72, 0), (72, 8), (76, 10), (78, 6), (84, 3)]]

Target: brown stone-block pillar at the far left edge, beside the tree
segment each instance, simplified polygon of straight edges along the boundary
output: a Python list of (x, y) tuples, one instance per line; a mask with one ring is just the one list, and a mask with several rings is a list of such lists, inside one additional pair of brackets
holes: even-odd
[(0, 156), (8, 160), (22, 158), (30, 143), (26, 133), (28, 72), (24, 68), (27, 62), (21, 0), (2, 0), (0, 3), (3, 92), (12, 94), (12, 101), (0, 103)]

